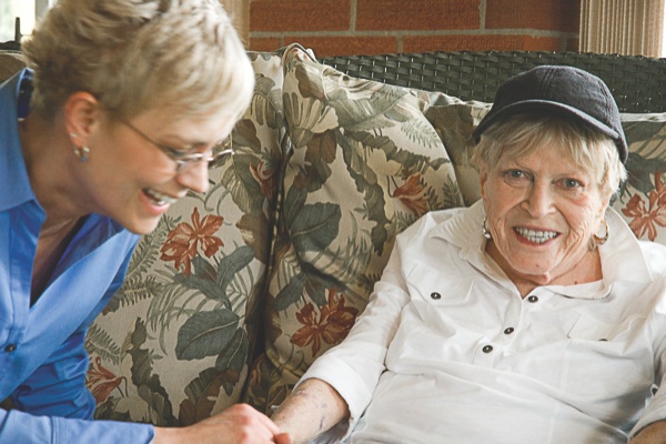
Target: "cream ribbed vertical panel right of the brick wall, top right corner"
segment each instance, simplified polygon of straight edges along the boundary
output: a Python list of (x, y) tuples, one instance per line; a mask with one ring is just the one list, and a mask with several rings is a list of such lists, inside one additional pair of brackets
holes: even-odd
[(583, 52), (662, 57), (665, 0), (582, 0)]

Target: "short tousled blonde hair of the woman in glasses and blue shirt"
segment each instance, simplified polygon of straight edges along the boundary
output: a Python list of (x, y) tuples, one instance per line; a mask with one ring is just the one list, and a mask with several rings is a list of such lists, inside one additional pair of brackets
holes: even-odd
[(59, 0), (22, 49), (44, 118), (87, 91), (122, 119), (157, 107), (238, 119), (254, 88), (219, 0)]

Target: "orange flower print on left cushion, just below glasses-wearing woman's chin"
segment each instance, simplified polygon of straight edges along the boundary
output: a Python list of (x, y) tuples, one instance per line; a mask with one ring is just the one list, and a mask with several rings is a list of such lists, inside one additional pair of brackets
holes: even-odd
[(199, 210), (194, 208), (192, 213), (192, 224), (181, 222), (167, 235), (167, 241), (160, 252), (162, 261), (173, 261), (174, 268), (181, 270), (183, 274), (192, 272), (192, 259), (199, 251), (206, 258), (212, 256), (224, 246), (222, 240), (215, 236), (215, 232), (222, 226), (224, 219), (219, 215), (209, 214), (200, 220)]

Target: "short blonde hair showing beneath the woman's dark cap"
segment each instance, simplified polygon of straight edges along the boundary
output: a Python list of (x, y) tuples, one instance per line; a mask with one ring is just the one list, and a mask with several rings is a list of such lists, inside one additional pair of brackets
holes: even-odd
[(589, 170), (605, 198), (616, 193), (627, 176), (610, 138), (553, 114), (516, 114), (493, 124), (481, 137), (474, 161), (496, 165), (502, 157), (517, 159), (543, 147), (556, 147), (565, 159)]

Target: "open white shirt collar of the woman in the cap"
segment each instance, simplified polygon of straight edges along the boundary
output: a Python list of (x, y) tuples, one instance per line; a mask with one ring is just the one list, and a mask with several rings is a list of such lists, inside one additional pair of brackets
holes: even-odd
[[(430, 236), (444, 239), (457, 246), (462, 260), (470, 262), (501, 284), (507, 284), (502, 282), (507, 281), (504, 273), (498, 272), (498, 266), (485, 254), (486, 240), (482, 234), (483, 218), (483, 203), (480, 200), (435, 226)], [(606, 222), (609, 230), (608, 241), (599, 246), (603, 281), (581, 285), (545, 285), (543, 290), (568, 297), (602, 299), (608, 295), (615, 282), (649, 283), (653, 281), (638, 240), (624, 219), (608, 208)]]

